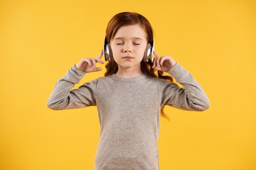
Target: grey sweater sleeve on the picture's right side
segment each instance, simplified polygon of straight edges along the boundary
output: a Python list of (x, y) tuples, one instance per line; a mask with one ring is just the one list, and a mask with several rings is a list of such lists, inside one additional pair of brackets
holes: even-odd
[(168, 74), (173, 76), (183, 87), (180, 88), (175, 83), (159, 80), (160, 105), (191, 111), (204, 111), (210, 107), (209, 99), (201, 85), (179, 63), (176, 63)]

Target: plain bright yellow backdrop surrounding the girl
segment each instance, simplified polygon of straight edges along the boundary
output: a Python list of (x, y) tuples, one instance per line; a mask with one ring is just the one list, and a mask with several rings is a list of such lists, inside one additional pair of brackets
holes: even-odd
[(160, 170), (255, 170), (254, 0), (1, 0), (0, 170), (93, 169), (96, 107), (52, 111), (46, 102), (73, 64), (99, 54), (123, 11), (150, 21), (157, 53), (189, 70), (211, 101), (204, 112), (166, 107)]

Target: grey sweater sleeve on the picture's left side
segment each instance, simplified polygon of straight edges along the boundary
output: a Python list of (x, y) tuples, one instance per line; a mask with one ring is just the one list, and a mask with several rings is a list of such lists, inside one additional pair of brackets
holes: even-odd
[(94, 92), (97, 86), (97, 79), (72, 90), (72, 87), (79, 83), (84, 75), (85, 72), (77, 70), (73, 65), (65, 76), (57, 81), (47, 101), (47, 107), (53, 110), (63, 110), (95, 106)]

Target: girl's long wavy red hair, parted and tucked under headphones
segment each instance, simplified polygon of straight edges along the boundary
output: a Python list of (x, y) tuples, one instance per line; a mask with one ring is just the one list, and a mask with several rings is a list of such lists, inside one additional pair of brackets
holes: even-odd
[[(139, 13), (131, 12), (118, 13), (110, 19), (106, 29), (106, 39), (108, 43), (110, 43), (110, 41), (114, 39), (119, 28), (121, 28), (122, 26), (136, 24), (139, 24), (139, 26), (141, 26), (141, 28), (143, 28), (146, 32), (148, 43), (153, 44), (153, 28), (149, 21)], [(173, 82), (173, 78), (171, 76), (164, 76), (163, 72), (157, 71), (156, 74), (156, 70), (152, 68), (152, 65), (153, 63), (151, 62), (145, 63), (144, 61), (141, 61), (141, 71), (149, 74), (150, 76), (163, 78), (167, 81)], [(107, 71), (105, 73), (105, 76), (110, 76), (117, 73), (117, 63), (115, 61), (108, 62), (106, 64), (106, 69)], [(169, 117), (164, 113), (164, 106), (161, 108), (161, 116), (169, 120)]]

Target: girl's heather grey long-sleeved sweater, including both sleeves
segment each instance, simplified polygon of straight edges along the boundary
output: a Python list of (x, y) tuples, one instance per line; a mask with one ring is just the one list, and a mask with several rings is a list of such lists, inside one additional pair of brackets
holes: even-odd
[(183, 88), (162, 78), (97, 78), (72, 90), (85, 72), (73, 65), (58, 80), (47, 106), (54, 110), (97, 106), (101, 126), (95, 170), (158, 170), (157, 140), (164, 105), (191, 111), (209, 100), (191, 74), (177, 63), (168, 72)]

